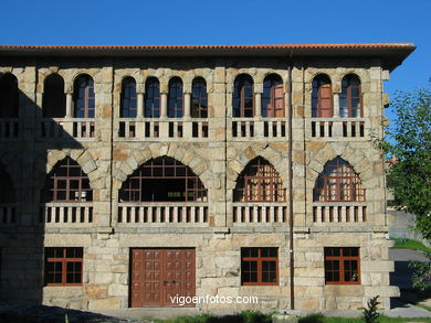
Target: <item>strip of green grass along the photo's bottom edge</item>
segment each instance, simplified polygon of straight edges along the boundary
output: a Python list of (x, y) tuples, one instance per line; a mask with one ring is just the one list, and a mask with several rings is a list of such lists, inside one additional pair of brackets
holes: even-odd
[[(272, 314), (262, 314), (245, 311), (239, 314), (213, 316), (201, 314), (198, 316), (179, 316), (172, 320), (154, 320), (157, 323), (270, 323)], [(430, 322), (431, 317), (387, 317), (380, 316), (379, 323)], [(299, 323), (364, 323), (360, 317), (325, 317), (322, 314), (311, 314), (299, 319)]]

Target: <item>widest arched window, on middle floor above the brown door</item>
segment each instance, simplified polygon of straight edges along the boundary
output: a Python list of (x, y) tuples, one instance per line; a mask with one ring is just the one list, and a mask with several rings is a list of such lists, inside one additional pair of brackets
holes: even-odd
[(119, 202), (206, 202), (207, 189), (189, 166), (169, 157), (151, 159), (123, 183)]

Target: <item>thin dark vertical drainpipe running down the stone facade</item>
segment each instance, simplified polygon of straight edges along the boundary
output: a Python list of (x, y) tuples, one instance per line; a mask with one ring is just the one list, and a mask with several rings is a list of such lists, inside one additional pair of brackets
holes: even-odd
[(293, 169), (292, 169), (292, 118), (293, 118), (293, 108), (292, 108), (292, 53), (291, 61), (287, 67), (288, 74), (288, 84), (287, 84), (287, 132), (288, 132), (288, 157), (287, 157), (287, 171), (288, 171), (288, 238), (290, 238), (290, 263), (291, 263), (291, 310), (295, 310), (295, 284), (294, 284), (294, 254), (293, 254), (293, 196), (292, 196), (292, 186), (293, 186)]

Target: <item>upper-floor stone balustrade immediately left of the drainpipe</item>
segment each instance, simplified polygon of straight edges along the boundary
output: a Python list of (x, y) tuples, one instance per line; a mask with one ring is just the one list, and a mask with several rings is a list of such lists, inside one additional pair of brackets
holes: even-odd
[(232, 118), (232, 138), (286, 138), (285, 118)]

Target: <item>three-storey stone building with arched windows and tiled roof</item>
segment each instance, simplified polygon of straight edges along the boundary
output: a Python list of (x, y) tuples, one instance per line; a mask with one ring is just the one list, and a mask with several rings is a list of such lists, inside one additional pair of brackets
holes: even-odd
[(388, 308), (374, 139), (413, 50), (1, 45), (0, 298)]

